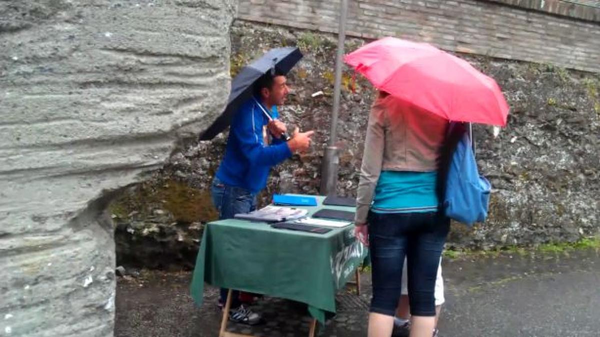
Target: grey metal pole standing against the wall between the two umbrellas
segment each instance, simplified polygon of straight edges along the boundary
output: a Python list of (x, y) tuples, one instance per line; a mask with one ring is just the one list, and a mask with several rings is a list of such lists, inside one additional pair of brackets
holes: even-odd
[(348, 0), (340, 0), (340, 26), (338, 28), (338, 51), (335, 58), (335, 82), (334, 82), (334, 109), (331, 114), (331, 134), (329, 135), (329, 145), (323, 157), (323, 167), (321, 171), (321, 194), (335, 195), (335, 186), (337, 185), (338, 175), (338, 148), (337, 142), (337, 119), (340, 111), (340, 92), (341, 92), (341, 70), (344, 57), (344, 41), (346, 40), (346, 17), (348, 14)]

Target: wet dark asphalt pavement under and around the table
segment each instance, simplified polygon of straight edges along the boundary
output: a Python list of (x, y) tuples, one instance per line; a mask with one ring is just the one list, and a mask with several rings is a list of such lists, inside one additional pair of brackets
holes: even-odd
[[(443, 261), (446, 304), (442, 337), (600, 336), (600, 253), (503, 253)], [(116, 337), (215, 337), (220, 326), (217, 290), (207, 287), (198, 308), (189, 296), (189, 272), (143, 272), (119, 278)], [(320, 327), (320, 336), (367, 336), (370, 273), (362, 273), (363, 293), (337, 296), (338, 313)], [(266, 324), (229, 330), (257, 337), (307, 336), (306, 306), (265, 297), (253, 309)]]

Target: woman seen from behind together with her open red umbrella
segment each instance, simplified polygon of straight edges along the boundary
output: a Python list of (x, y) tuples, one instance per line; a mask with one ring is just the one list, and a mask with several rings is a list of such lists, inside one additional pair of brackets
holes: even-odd
[(356, 198), (356, 236), (370, 245), (373, 264), (368, 336), (392, 334), (406, 257), (410, 336), (430, 337), (436, 335), (434, 285), (450, 225), (439, 207), (449, 121), (505, 125), (508, 105), (493, 79), (429, 44), (384, 38), (350, 53), (346, 62), (380, 90)]

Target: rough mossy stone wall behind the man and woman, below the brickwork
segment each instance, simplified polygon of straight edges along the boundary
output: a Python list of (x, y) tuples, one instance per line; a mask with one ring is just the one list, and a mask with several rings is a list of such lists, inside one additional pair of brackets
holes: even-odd
[[(346, 50), (364, 40), (349, 38)], [(262, 203), (272, 193), (318, 194), (320, 164), (330, 128), (335, 35), (236, 21), (232, 28), (232, 71), (269, 47), (298, 45), (305, 58), (290, 73), (293, 94), (281, 109), (284, 121), (316, 130), (313, 148), (276, 167)], [(491, 128), (475, 126), (479, 167), (494, 186), (490, 218), (466, 230), (454, 226), (449, 246), (496, 248), (575, 241), (600, 234), (600, 77), (545, 64), (466, 57), (493, 76), (511, 105), (508, 127), (494, 139)], [(373, 101), (370, 84), (348, 68), (343, 75), (338, 137), (340, 195), (355, 195), (365, 127)], [(353, 91), (353, 87), (355, 90)], [(314, 93), (322, 91), (322, 95)], [(115, 207), (121, 262), (146, 267), (193, 267), (202, 222), (211, 212), (209, 184), (223, 155), (226, 134), (176, 154)], [(179, 195), (193, 203), (163, 202)], [(152, 186), (152, 187), (150, 187)], [(165, 187), (167, 186), (167, 187)], [(140, 193), (141, 192), (141, 193)], [(176, 193), (175, 193), (176, 192)], [(154, 195), (156, 203), (136, 202)], [(168, 199), (168, 200), (167, 200)], [(193, 207), (194, 211), (188, 209)], [(177, 215), (184, 213), (188, 216)]]

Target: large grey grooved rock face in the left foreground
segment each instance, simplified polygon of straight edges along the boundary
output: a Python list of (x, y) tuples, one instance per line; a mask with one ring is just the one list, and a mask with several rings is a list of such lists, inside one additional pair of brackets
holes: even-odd
[(0, 2), (0, 334), (112, 336), (111, 191), (222, 109), (235, 10)]

